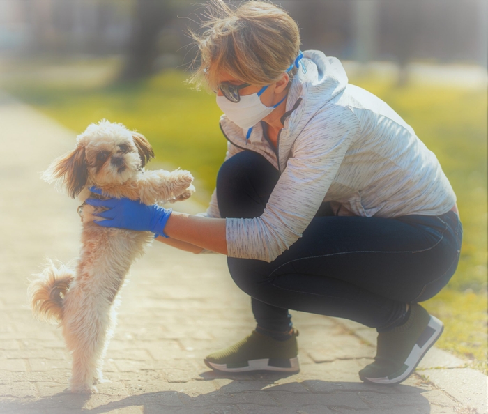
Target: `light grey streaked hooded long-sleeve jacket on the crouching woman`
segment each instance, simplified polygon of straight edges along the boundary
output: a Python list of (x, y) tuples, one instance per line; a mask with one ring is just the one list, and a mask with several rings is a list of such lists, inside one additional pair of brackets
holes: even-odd
[[(227, 218), (230, 257), (273, 261), (302, 236), (323, 201), (336, 215), (440, 215), (454, 206), (452, 187), (432, 151), (372, 93), (348, 84), (340, 61), (304, 52), (293, 79), (277, 151), (261, 123), (242, 130), (226, 116), (226, 160), (244, 150), (280, 171), (264, 213)], [(208, 217), (220, 217), (215, 191)], [(326, 234), (323, 235), (327, 237)]]

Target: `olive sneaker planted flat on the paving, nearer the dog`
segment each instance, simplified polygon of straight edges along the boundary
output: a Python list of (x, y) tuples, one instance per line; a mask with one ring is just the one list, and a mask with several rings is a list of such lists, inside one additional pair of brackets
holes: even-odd
[(207, 367), (224, 372), (298, 372), (300, 365), (296, 337), (296, 329), (285, 341), (277, 341), (254, 330), (229, 348), (207, 355), (204, 362)]

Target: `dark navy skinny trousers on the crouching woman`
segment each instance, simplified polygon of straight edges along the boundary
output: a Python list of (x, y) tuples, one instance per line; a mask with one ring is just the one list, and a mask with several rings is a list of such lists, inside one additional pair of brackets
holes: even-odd
[[(217, 178), (222, 217), (259, 217), (278, 171), (243, 151), (224, 162)], [(457, 268), (462, 224), (439, 216), (340, 217), (324, 203), (303, 232), (271, 263), (229, 257), (234, 282), (252, 298), (264, 329), (291, 327), (288, 309), (351, 319), (378, 330), (404, 317), (406, 302), (436, 295)]]

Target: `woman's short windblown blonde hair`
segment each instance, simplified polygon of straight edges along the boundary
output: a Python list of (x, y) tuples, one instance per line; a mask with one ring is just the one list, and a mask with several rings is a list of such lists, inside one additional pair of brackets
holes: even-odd
[[(211, 0), (205, 7), (203, 33), (190, 33), (199, 52), (188, 82), (197, 89), (207, 84), (216, 91), (222, 70), (256, 86), (273, 84), (298, 56), (300, 31), (282, 8), (257, 0), (238, 7)], [(296, 70), (288, 72), (291, 79)]]

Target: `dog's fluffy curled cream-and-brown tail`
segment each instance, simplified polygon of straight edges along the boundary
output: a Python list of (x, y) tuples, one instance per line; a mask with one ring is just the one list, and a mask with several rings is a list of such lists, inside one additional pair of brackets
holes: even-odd
[(63, 319), (63, 299), (73, 282), (74, 272), (59, 263), (56, 267), (49, 260), (48, 266), (29, 285), (31, 309), (40, 321), (61, 322)]

